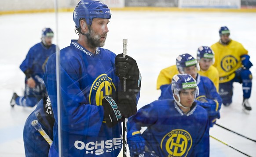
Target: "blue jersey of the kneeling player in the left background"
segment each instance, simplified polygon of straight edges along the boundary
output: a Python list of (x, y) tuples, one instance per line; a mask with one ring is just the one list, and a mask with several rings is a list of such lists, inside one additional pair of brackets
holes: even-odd
[[(46, 48), (43, 43), (37, 43), (29, 49), (29, 52), (25, 60), (20, 65), (20, 69), (25, 72), (30, 70), (31, 77), (38, 75), (40, 78), (43, 77), (43, 64), (51, 54), (55, 53), (56, 45), (51, 44), (49, 48)], [(27, 79), (27, 78), (26, 78)], [(26, 80), (25, 80), (26, 81)]]

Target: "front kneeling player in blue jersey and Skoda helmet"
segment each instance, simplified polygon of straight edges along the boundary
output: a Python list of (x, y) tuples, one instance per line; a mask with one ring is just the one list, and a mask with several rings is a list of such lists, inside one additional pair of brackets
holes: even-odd
[[(197, 82), (188, 74), (172, 78), (173, 99), (156, 100), (128, 118), (131, 157), (208, 157), (207, 111), (197, 105)], [(141, 134), (142, 127), (147, 127)]]

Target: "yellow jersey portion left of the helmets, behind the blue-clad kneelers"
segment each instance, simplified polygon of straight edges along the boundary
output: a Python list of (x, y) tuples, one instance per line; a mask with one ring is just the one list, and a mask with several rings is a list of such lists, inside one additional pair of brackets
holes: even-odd
[(162, 85), (171, 84), (172, 77), (176, 74), (179, 74), (176, 65), (172, 65), (161, 70), (157, 78), (157, 89), (160, 89), (160, 86)]

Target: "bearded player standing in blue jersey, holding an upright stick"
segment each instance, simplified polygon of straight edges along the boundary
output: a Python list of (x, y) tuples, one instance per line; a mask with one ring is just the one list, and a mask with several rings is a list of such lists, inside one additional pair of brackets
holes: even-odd
[(80, 0), (73, 11), (78, 40), (59, 52), (60, 81), (56, 54), (48, 59), (44, 82), (56, 120), (49, 157), (117, 157), (121, 151), (121, 122), (137, 112), (141, 76), (132, 57), (102, 48), (110, 18), (106, 4)]

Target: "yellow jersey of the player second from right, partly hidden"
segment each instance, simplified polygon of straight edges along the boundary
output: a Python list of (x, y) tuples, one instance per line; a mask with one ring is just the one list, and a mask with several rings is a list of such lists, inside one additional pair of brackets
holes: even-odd
[(210, 80), (213, 82), (214, 86), (216, 87), (216, 91), (219, 92), (219, 72), (217, 68), (211, 65), (207, 71), (202, 71), (200, 69), (200, 71), (198, 71), (198, 74), (201, 76), (210, 78)]

